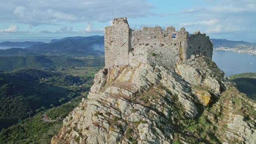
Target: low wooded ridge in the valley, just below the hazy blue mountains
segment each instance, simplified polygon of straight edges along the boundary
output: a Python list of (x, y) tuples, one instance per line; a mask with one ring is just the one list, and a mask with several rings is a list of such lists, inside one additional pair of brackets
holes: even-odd
[(0, 71), (24, 68), (53, 70), (56, 67), (104, 66), (103, 55), (71, 58), (58, 55), (0, 56)]

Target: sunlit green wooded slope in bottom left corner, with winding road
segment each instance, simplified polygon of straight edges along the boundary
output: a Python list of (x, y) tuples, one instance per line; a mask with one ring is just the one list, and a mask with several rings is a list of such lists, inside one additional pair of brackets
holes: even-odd
[[(82, 96), (71, 99), (58, 107), (45, 110), (48, 116), (65, 117), (81, 101)], [(60, 131), (62, 120), (45, 122), (42, 120), (43, 111), (37, 113), (30, 120), (25, 119), (0, 132), (0, 144), (49, 144), (51, 138)]]

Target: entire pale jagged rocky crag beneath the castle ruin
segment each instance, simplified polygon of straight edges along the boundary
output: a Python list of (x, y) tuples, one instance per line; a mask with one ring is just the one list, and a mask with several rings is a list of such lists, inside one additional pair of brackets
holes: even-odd
[(51, 144), (255, 144), (256, 104), (200, 55), (100, 70)]

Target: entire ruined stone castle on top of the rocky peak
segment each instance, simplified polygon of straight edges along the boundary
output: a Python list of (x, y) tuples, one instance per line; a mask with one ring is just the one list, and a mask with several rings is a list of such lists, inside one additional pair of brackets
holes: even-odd
[(143, 27), (131, 30), (127, 18), (115, 18), (105, 27), (105, 67), (128, 65), (136, 62), (157, 64), (168, 69), (176, 62), (202, 53), (211, 59), (213, 42), (199, 31), (189, 35), (185, 28)]

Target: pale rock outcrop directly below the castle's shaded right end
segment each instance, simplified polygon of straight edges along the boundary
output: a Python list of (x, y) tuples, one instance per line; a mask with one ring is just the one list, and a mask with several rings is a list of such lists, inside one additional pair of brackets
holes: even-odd
[(229, 86), (235, 86), (213, 61), (202, 54), (179, 61), (175, 71), (190, 84), (205, 86), (215, 94), (220, 94)]

